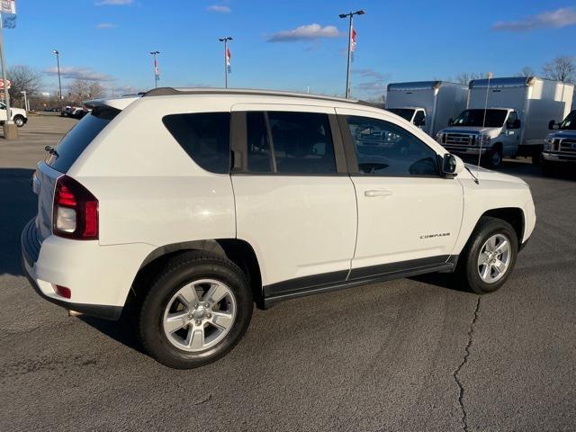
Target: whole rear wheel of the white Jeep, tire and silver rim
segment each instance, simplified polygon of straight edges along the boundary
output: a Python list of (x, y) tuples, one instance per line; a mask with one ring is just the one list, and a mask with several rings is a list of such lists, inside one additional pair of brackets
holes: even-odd
[(163, 365), (208, 365), (236, 346), (252, 309), (238, 266), (209, 253), (185, 253), (169, 261), (150, 286), (139, 313), (139, 338)]

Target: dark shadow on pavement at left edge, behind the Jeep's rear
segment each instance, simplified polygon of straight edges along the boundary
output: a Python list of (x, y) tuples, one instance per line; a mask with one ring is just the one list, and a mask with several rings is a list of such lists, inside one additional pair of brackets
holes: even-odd
[(37, 211), (33, 169), (0, 168), (0, 275), (23, 275), (20, 233)]

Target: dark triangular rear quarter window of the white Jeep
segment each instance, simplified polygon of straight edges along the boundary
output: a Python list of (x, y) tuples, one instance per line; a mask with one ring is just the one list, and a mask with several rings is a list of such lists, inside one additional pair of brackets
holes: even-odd
[(211, 173), (229, 173), (229, 112), (170, 114), (162, 121), (196, 164)]

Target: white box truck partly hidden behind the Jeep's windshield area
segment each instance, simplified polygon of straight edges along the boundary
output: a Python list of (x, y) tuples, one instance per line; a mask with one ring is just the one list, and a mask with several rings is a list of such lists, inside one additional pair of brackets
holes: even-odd
[(466, 107), (468, 85), (446, 81), (391, 83), (386, 109), (400, 115), (434, 137)]

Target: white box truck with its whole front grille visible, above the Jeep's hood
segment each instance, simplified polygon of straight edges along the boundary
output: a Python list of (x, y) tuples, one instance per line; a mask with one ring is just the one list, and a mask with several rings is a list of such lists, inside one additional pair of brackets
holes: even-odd
[(482, 155), (491, 167), (500, 166), (502, 157), (539, 163), (548, 121), (570, 112), (574, 93), (572, 84), (536, 76), (474, 79), (469, 87), (466, 110), (436, 139), (452, 153)]

